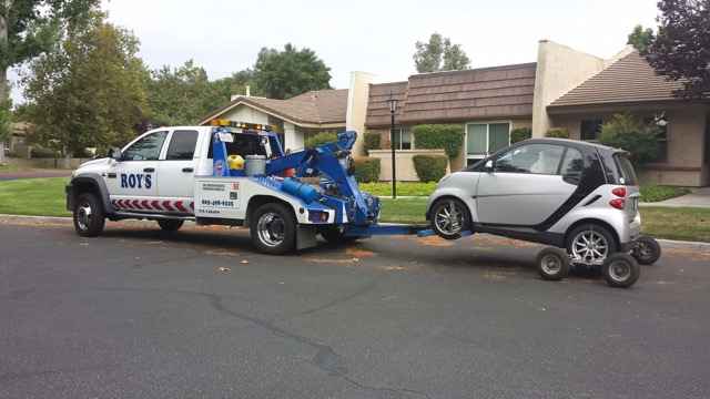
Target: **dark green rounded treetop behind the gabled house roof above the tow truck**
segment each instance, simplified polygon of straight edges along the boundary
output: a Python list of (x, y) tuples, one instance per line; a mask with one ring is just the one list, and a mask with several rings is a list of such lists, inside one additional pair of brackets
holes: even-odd
[(283, 51), (263, 48), (254, 65), (256, 88), (271, 99), (290, 99), (311, 90), (331, 89), (331, 69), (310, 49), (291, 43)]

